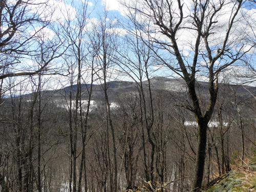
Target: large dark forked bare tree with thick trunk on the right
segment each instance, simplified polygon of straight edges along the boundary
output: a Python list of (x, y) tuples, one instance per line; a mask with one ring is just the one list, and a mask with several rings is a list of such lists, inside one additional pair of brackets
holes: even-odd
[[(127, 5), (131, 12), (139, 12), (141, 20), (151, 20), (152, 28), (150, 32), (157, 33), (158, 38), (151, 35), (156, 46), (161, 47), (163, 52), (155, 52), (165, 65), (183, 78), (187, 84), (190, 103), (184, 105), (186, 109), (193, 112), (198, 123), (198, 144), (194, 182), (191, 188), (198, 191), (202, 185), (205, 151), (207, 141), (207, 125), (214, 112), (217, 94), (219, 89), (219, 74), (252, 49), (245, 50), (243, 44), (245, 36), (240, 31), (234, 37), (232, 33), (234, 26), (241, 18), (241, 10), (245, 1), (193, 1), (191, 4), (175, 1), (145, 0), (136, 2), (134, 5)], [(225, 12), (226, 7), (231, 7)], [(227, 16), (227, 21), (223, 24), (218, 20), (222, 15)], [(189, 56), (185, 56), (181, 44), (181, 33), (189, 33), (190, 30), (195, 37), (193, 41), (187, 42), (190, 45)], [(216, 34), (225, 30), (224, 35), (218, 43), (212, 42)], [(176, 59), (175, 63), (166, 60), (166, 52)], [(200, 63), (204, 63), (202, 67)], [(206, 70), (204, 70), (206, 69)], [(198, 74), (207, 76), (208, 79), (208, 106), (203, 109), (200, 98), (195, 89)]]

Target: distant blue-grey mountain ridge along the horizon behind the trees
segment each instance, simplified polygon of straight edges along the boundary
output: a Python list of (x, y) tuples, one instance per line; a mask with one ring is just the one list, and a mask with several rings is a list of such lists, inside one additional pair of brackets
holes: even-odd
[[(111, 100), (115, 100), (120, 94), (129, 94), (129, 93), (137, 93), (138, 88), (136, 87), (136, 82), (132, 81), (109, 81), (108, 85), (108, 94)], [(175, 78), (166, 78), (166, 77), (153, 77), (150, 79), (151, 89), (154, 93), (161, 92), (169, 92), (173, 93), (177, 96), (184, 96), (187, 94), (187, 86), (184, 79), (175, 79)], [(84, 83), (81, 84), (82, 91), (82, 99), (87, 99), (87, 89), (89, 89), (91, 84)], [(101, 84), (93, 84), (93, 100), (102, 100), (103, 99), (103, 87)], [(140, 86), (140, 85), (138, 85)], [(144, 90), (148, 90), (148, 81), (143, 81)], [(208, 83), (204, 81), (197, 81), (196, 89), (200, 91), (200, 94), (207, 95), (208, 94)], [(63, 97), (67, 97), (70, 94), (71, 86), (67, 86), (65, 88), (61, 88), (58, 90), (49, 90), (43, 91), (42, 94), (49, 95), (53, 99), (60, 99)], [(221, 91), (231, 92), (232, 90), (236, 90), (237, 94), (240, 96), (246, 95), (256, 95), (256, 87), (250, 86), (241, 86), (241, 85), (231, 85), (231, 84), (223, 84), (220, 83), (220, 93)], [(75, 92), (77, 91), (77, 84), (72, 85), (73, 96), (75, 96)], [(182, 95), (180, 93), (183, 93)], [(165, 93), (163, 93), (165, 94)], [(24, 97), (30, 97), (31, 94), (26, 94)]]

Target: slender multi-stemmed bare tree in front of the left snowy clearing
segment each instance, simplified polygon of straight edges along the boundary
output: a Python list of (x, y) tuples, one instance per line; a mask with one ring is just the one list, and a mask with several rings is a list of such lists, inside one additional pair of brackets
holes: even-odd
[[(62, 35), (68, 39), (67, 47), (69, 47), (65, 55), (67, 66), (69, 68), (68, 70), (70, 71), (70, 91), (69, 98), (66, 99), (69, 112), (71, 153), (69, 190), (87, 191), (87, 129), (95, 74), (94, 62), (97, 50), (92, 49), (86, 41), (90, 38), (87, 29), (87, 24), (89, 22), (88, 18), (90, 15), (88, 10), (88, 1), (83, 2), (77, 6), (74, 19), (71, 18), (72, 14), (72, 12), (68, 12), (67, 15), (64, 15), (66, 18), (65, 24), (60, 24), (63, 30)], [(76, 88), (74, 90), (73, 88), (75, 86), (75, 82)], [(82, 90), (82, 87), (85, 88), (85, 90)], [(82, 98), (86, 98), (87, 101), (83, 101)], [(86, 107), (84, 108), (85, 105)], [(81, 147), (79, 146), (80, 140), (82, 145)], [(81, 161), (79, 169), (77, 169), (78, 157), (80, 155)]]

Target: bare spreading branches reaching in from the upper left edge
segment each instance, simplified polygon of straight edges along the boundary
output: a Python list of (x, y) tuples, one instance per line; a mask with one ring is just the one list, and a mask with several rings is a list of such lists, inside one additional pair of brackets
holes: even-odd
[(26, 58), (36, 54), (33, 43), (38, 33), (49, 26), (53, 11), (47, 1), (0, 1), (1, 80), (49, 70), (49, 63), (36, 70), (29, 68)]

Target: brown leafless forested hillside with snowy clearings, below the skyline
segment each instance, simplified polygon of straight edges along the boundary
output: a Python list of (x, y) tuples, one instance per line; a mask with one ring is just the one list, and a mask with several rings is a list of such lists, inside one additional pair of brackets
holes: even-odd
[[(145, 183), (144, 177), (147, 174), (150, 177), (150, 172), (146, 170), (151, 168), (152, 153), (152, 185), (167, 191), (189, 190), (195, 164), (197, 124), (193, 114), (179, 106), (188, 99), (188, 94), (186, 89), (166, 88), (166, 84), (174, 82), (176, 87), (182, 89), (184, 84), (181, 80), (153, 78), (150, 82), (154, 113), (150, 134), (154, 138), (154, 151), (150, 150), (147, 130), (141, 119), (141, 90), (138, 91), (135, 83), (111, 81), (106, 84), (111, 112), (108, 118), (112, 121), (114, 135), (110, 132), (112, 128), (106, 124), (106, 120), (110, 119), (105, 114), (106, 105), (100, 85), (88, 86), (92, 88), (91, 98), (87, 85), (81, 86), (78, 108), (75, 98), (77, 85), (72, 89), (67, 87), (24, 96), (11, 95), (3, 99), (1, 162), (5, 176), (14, 179), (8, 180), (8, 186), (14, 189), (19, 177), (22, 178), (20, 182), (24, 181), (26, 164), (30, 162), (27, 153), (31, 147), (32, 165), (36, 168), (40, 159), (42, 185), (46, 191), (68, 191), (69, 185), (72, 185), (70, 174), (74, 161), (78, 163), (77, 175), (81, 173), (82, 177), (86, 176), (88, 190), (104, 190), (105, 187), (109, 191), (111, 189), (107, 183), (114, 179), (114, 136), (121, 191), (126, 187), (142, 190), (142, 186), (151, 186)], [(148, 84), (143, 84), (144, 98), (150, 103)], [(201, 98), (208, 98), (204, 91), (207, 89), (205, 83), (198, 82), (197, 87)], [(246, 89), (253, 94), (256, 92), (254, 87)], [(204, 184), (226, 174), (233, 161), (239, 160), (243, 164), (243, 154), (252, 155), (255, 150), (255, 99), (246, 89), (229, 84), (220, 86), (216, 110), (207, 130)], [(150, 109), (150, 104), (146, 104), (146, 113), (151, 114)], [(153, 121), (151, 116), (146, 118)], [(86, 127), (83, 126), (85, 123)], [(78, 154), (75, 160), (72, 158), (74, 145)], [(40, 154), (37, 154), (38, 148)], [(81, 162), (85, 163), (87, 172), (81, 172)], [(17, 171), (22, 175), (16, 176)], [(34, 174), (33, 180), (36, 182), (38, 175)]]

